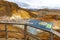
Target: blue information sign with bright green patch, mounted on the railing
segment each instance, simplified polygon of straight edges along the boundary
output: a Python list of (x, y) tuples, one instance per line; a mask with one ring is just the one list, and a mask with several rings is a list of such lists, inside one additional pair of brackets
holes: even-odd
[(51, 28), (53, 26), (52, 22), (45, 22), (40, 20), (30, 20), (28, 24), (46, 31), (51, 31)]

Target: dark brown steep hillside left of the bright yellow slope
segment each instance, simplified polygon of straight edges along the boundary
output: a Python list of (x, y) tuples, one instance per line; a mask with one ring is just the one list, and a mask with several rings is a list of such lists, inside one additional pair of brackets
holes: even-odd
[(18, 5), (7, 1), (0, 1), (0, 16), (12, 16), (13, 10), (17, 10)]

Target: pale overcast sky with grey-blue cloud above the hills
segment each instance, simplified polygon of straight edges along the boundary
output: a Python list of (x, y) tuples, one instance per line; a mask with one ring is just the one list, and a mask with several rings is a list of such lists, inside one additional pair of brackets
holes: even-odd
[(60, 0), (8, 0), (17, 3), (22, 8), (31, 9), (60, 9)]

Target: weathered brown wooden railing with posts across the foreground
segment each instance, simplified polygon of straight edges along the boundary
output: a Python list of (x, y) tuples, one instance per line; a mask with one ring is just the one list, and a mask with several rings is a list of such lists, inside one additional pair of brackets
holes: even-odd
[[(41, 38), (38, 38), (37, 36), (35, 36), (35, 35), (33, 35), (33, 34), (28, 34), (28, 32), (27, 32), (27, 27), (28, 26), (30, 26), (30, 25), (26, 25), (25, 24), (25, 22), (23, 22), (23, 20), (22, 21), (18, 21), (18, 22), (15, 22), (15, 21), (0, 21), (0, 24), (5, 24), (5, 39), (7, 40), (8, 39), (8, 32), (15, 32), (15, 33), (20, 33), (20, 32), (16, 32), (16, 31), (8, 31), (7, 30), (7, 25), (9, 25), (9, 24), (11, 24), (11, 25), (24, 25), (24, 32), (23, 32), (23, 34), (24, 34), (24, 40), (28, 40), (27, 39), (27, 35), (28, 36), (31, 36), (32, 38), (34, 38), (34, 39), (36, 39), (36, 40), (42, 40)], [(31, 26), (32, 27), (32, 26)], [(33, 27), (34, 28), (34, 27)], [(37, 29), (37, 28), (36, 28)], [(3, 32), (3, 30), (0, 30), (0, 32)], [(49, 40), (53, 40), (53, 34), (51, 33), (51, 32), (49, 32), (51, 35), (50, 35), (50, 38), (49, 38)], [(33, 39), (31, 39), (31, 40), (33, 40)]]

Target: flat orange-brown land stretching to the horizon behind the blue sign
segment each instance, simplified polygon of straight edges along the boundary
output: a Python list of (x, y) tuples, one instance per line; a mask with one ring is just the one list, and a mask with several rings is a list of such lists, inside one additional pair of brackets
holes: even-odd
[(37, 11), (30, 11), (31, 13), (37, 15), (35, 19), (43, 20), (47, 22), (53, 22), (53, 29), (60, 28), (60, 10), (56, 9), (39, 9)]

